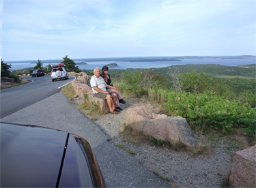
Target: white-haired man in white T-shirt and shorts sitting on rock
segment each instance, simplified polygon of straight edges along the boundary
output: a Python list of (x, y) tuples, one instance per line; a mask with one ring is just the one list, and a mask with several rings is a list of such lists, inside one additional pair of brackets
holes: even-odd
[(117, 94), (111, 91), (106, 91), (106, 87), (111, 89), (113, 89), (114, 87), (106, 84), (105, 80), (100, 76), (100, 68), (96, 67), (94, 69), (94, 76), (91, 77), (90, 84), (94, 96), (100, 99), (106, 99), (106, 102), (109, 105), (109, 112), (112, 114), (117, 114), (117, 112), (120, 111), (115, 108)]

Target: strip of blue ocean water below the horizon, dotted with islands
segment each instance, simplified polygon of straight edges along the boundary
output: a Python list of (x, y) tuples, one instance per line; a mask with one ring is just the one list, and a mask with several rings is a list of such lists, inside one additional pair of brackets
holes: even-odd
[[(80, 61), (75, 61), (75, 63), (80, 63)], [(182, 59), (182, 61), (155, 61), (155, 62), (127, 62), (127, 61), (95, 61), (87, 62), (87, 65), (78, 65), (79, 69), (95, 69), (99, 67), (100, 69), (110, 63), (117, 63), (118, 67), (112, 67), (111, 69), (128, 69), (128, 68), (160, 68), (168, 67), (171, 65), (186, 65), (186, 64), (218, 64), (227, 66), (237, 66), (237, 65), (248, 65), (255, 64), (256, 59)], [(25, 69), (29, 67), (35, 67), (36, 63), (8, 63), (12, 65), (12, 70)], [(53, 63), (56, 64), (56, 63)], [(48, 63), (44, 63), (43, 66), (46, 67)]]

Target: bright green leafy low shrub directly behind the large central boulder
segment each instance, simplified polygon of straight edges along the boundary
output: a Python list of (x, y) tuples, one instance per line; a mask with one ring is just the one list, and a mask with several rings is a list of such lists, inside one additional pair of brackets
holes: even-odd
[[(256, 108), (240, 101), (229, 101), (212, 91), (199, 94), (170, 93), (167, 110), (186, 118), (192, 127), (200, 126), (205, 131), (210, 127), (221, 129), (224, 134), (236, 127), (254, 127), (255, 130)], [(253, 130), (250, 129), (250, 132), (253, 133)]]

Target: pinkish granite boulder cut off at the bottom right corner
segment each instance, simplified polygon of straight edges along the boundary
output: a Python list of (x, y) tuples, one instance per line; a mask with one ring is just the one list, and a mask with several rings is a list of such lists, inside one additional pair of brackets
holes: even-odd
[(236, 152), (229, 187), (256, 187), (256, 144)]

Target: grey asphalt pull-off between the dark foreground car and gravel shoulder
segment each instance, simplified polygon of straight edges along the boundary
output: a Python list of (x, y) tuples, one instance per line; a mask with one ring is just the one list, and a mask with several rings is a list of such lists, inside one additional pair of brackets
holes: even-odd
[(81, 114), (62, 92), (5, 116), (2, 122), (40, 125), (85, 138), (96, 155), (106, 187), (169, 187), (139, 161), (117, 148), (98, 125)]

